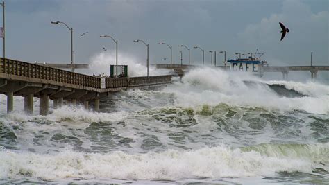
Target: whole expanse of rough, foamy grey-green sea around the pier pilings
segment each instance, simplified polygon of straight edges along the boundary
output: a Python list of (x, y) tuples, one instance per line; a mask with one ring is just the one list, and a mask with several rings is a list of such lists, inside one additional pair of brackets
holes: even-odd
[(329, 86), (317, 82), (198, 69), (112, 94), (101, 113), (0, 103), (0, 183), (329, 183)]

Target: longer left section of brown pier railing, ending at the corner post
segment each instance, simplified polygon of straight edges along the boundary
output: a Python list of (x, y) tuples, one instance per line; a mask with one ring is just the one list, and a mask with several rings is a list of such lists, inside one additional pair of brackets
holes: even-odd
[(71, 85), (82, 85), (85, 87), (101, 88), (99, 78), (87, 76), (80, 73), (73, 73), (52, 67), (45, 67), (39, 64), (31, 64), (18, 60), (0, 58), (0, 73), (27, 78), (51, 80)]

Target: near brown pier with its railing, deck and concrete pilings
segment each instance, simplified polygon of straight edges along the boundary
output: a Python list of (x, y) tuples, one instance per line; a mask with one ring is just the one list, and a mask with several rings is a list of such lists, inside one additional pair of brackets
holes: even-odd
[(99, 111), (99, 98), (111, 92), (171, 82), (171, 76), (100, 78), (7, 58), (0, 62), (0, 93), (7, 95), (7, 112), (14, 109), (13, 96), (24, 96), (28, 114), (33, 114), (33, 97), (40, 98), (42, 115), (49, 112), (49, 99), (54, 108), (67, 100), (71, 105), (83, 103), (86, 109), (93, 100), (94, 110)]

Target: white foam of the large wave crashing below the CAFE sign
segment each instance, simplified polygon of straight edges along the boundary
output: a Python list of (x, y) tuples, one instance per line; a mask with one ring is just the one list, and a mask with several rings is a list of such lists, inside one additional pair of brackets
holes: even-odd
[[(244, 81), (256, 82), (246, 85)], [(270, 81), (269, 84), (285, 85), (288, 89), (295, 89), (309, 96), (287, 98), (280, 97), (260, 78), (248, 73), (234, 73), (219, 69), (201, 68), (189, 71), (182, 82), (175, 82), (165, 91), (174, 93), (177, 104), (184, 107), (198, 105), (218, 105), (227, 103), (246, 107), (264, 107), (287, 111), (301, 109), (316, 114), (329, 114), (329, 87), (309, 82), (280, 82)]]

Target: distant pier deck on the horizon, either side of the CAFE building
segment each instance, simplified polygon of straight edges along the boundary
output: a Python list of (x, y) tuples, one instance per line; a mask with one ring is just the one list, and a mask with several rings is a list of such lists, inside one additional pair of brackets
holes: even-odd
[[(184, 70), (188, 69), (196, 69), (199, 67), (203, 67), (200, 65), (180, 65), (180, 64), (155, 64), (155, 67), (157, 69), (172, 69), (178, 75), (183, 75)], [(214, 67), (214, 66), (212, 66)], [(219, 69), (223, 70), (229, 70), (230, 66), (216, 66)], [(262, 72), (281, 72), (283, 75), (283, 78), (286, 78), (289, 71), (310, 71), (312, 78), (317, 78), (317, 72), (318, 71), (329, 71), (329, 66), (287, 66), (287, 67), (269, 67), (269, 66), (263, 66)]]

